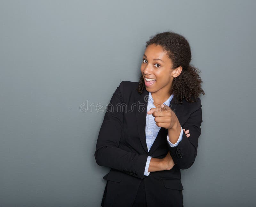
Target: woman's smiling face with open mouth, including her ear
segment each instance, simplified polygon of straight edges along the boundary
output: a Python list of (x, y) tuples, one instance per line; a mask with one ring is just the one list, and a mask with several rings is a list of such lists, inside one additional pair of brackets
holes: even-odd
[(172, 61), (162, 46), (151, 44), (145, 49), (140, 70), (148, 92), (157, 92), (160, 96), (169, 94), (172, 81), (180, 75), (181, 69), (172, 69)]

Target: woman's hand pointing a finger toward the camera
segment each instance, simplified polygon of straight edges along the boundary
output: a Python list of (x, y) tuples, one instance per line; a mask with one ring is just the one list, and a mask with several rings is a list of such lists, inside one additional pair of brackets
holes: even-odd
[(147, 114), (152, 114), (152, 116), (155, 117), (155, 122), (158, 127), (172, 129), (175, 126), (180, 125), (177, 116), (167, 105), (161, 104), (161, 107), (151, 108)]

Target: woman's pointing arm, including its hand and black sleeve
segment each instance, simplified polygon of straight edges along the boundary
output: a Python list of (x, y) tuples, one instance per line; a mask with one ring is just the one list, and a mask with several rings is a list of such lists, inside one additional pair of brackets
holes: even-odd
[[(174, 164), (180, 169), (188, 169), (196, 159), (198, 138), (201, 134), (200, 126), (203, 122), (200, 98), (197, 98), (196, 102), (190, 103), (188, 107), (191, 107), (189, 112), (190, 116), (182, 128), (189, 129), (190, 136), (187, 137), (186, 133), (183, 133), (182, 139), (177, 146), (167, 144)], [(155, 117), (155, 122), (158, 127), (168, 129), (169, 141), (176, 143), (181, 133), (181, 127), (177, 116), (170, 107), (162, 104), (161, 110), (151, 108), (147, 113)], [(170, 159), (168, 158), (168, 160)]]

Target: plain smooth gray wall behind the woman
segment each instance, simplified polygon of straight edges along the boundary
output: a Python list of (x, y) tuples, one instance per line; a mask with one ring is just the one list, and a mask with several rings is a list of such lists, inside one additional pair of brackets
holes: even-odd
[(0, 206), (100, 206), (96, 105), (138, 81), (166, 30), (188, 39), (206, 93), (184, 206), (255, 206), (255, 18), (253, 1), (1, 1)]

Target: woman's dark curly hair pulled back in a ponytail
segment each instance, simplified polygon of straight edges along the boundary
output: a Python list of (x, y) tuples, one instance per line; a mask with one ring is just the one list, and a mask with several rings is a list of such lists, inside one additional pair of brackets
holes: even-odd
[[(194, 67), (194, 65), (189, 64), (191, 61), (191, 51), (185, 37), (174, 32), (157, 33), (146, 42), (146, 48), (151, 44), (160, 45), (164, 48), (172, 61), (172, 69), (179, 66), (182, 67), (180, 75), (173, 79), (170, 89), (170, 95), (173, 94), (173, 101), (176, 104), (182, 103), (182, 98), (192, 103), (196, 101), (201, 93), (205, 95), (204, 90), (201, 88), (203, 81), (199, 77), (201, 71)], [(138, 92), (142, 94), (144, 88), (145, 83), (141, 74)]]

